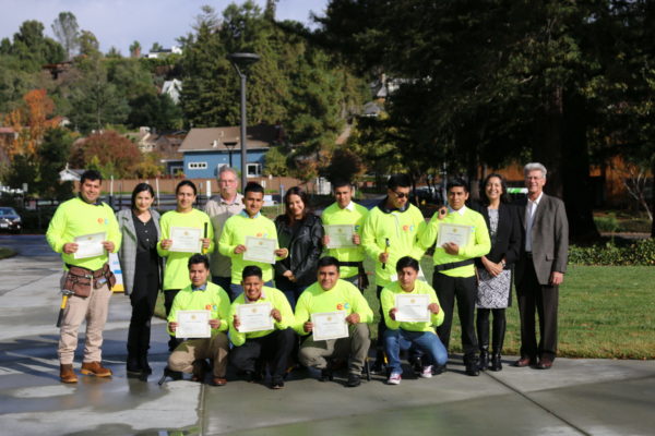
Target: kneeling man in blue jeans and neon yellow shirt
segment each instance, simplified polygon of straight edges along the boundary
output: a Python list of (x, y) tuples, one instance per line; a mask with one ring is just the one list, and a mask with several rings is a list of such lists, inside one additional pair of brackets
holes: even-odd
[[(398, 280), (388, 284), (380, 294), (382, 313), (386, 331), (384, 331), (384, 351), (389, 359), (391, 374), (386, 383), (400, 385), (403, 370), (401, 367), (401, 349), (407, 350), (415, 344), (421, 349), (428, 358), (427, 365), (422, 367), (420, 376), (429, 378), (432, 376), (432, 365), (438, 370), (448, 362), (445, 347), (434, 332), (434, 327), (443, 323), (443, 311), (439, 306), (437, 293), (427, 282), (416, 280), (418, 277), (418, 262), (409, 256), (401, 257), (396, 264)], [(396, 295), (428, 295), (426, 312), (429, 311), (429, 320), (412, 322), (398, 320), (398, 307)], [(427, 314), (426, 314), (427, 315)]]

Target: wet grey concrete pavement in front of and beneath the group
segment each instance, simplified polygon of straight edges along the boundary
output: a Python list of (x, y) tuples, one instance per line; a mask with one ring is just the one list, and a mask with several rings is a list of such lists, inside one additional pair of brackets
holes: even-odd
[[(21, 253), (0, 261), (0, 435), (651, 435), (655, 428), (654, 361), (558, 359), (552, 370), (537, 371), (508, 366), (508, 358), (502, 372), (467, 377), (452, 356), (445, 374), (407, 376), (400, 386), (374, 376), (349, 389), (345, 374), (322, 384), (300, 371), (275, 391), (234, 376), (221, 388), (159, 387), (164, 324), (153, 326), (154, 376), (127, 378), (131, 308), (121, 294), (112, 298), (104, 347), (115, 376), (62, 385), (55, 327), (59, 258), (43, 237), (0, 235), (0, 245)], [(79, 347), (78, 370), (81, 355)]]

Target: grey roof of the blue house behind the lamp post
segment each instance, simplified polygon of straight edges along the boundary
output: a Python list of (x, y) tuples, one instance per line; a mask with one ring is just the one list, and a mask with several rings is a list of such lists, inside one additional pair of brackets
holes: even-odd
[[(228, 152), (226, 144), (235, 144), (234, 150), (241, 149), (240, 128), (191, 129), (179, 152)], [(270, 148), (278, 142), (282, 129), (276, 125), (253, 125), (247, 129), (248, 149)]]

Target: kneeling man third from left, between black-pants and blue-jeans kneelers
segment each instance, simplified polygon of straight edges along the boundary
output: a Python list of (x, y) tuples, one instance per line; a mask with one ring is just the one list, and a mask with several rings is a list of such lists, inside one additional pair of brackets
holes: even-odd
[[(346, 386), (356, 387), (360, 384), (361, 368), (371, 343), (367, 324), (373, 320), (373, 312), (353, 283), (338, 278), (336, 258), (323, 257), (318, 266), (318, 281), (302, 292), (296, 304), (296, 331), (310, 335), (300, 346), (298, 359), (305, 366), (321, 370), (321, 382), (325, 382), (332, 379), (325, 358), (349, 358)], [(345, 312), (347, 336), (314, 339), (311, 315), (332, 312)]]

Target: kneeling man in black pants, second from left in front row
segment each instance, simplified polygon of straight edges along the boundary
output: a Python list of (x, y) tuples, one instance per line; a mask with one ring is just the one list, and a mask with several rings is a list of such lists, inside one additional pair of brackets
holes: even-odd
[[(249, 265), (241, 274), (243, 293), (239, 294), (231, 305), (229, 313), (229, 338), (235, 346), (230, 352), (230, 362), (239, 371), (246, 373), (246, 379), (252, 382), (259, 372), (257, 361), (260, 358), (271, 362), (271, 388), (284, 387), (286, 365), (294, 350), (296, 324), (294, 312), (288, 300), (275, 288), (264, 286), (262, 269), (257, 265)], [(239, 306), (267, 303), (271, 305), (270, 316), (273, 318), (273, 329), (241, 332), (240, 327), (247, 327), (239, 318)], [(254, 307), (254, 306), (253, 306)], [(242, 313), (242, 312), (241, 312)]]

